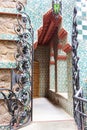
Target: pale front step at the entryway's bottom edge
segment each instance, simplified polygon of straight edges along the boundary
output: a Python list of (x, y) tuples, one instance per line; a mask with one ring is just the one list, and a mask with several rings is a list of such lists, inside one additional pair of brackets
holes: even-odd
[(74, 121), (37, 122), (20, 130), (77, 130)]

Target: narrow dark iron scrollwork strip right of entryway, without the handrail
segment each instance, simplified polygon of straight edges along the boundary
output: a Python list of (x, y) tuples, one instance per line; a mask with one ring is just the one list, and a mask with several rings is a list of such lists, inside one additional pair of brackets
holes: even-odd
[[(73, 30), (72, 30), (72, 73), (73, 73), (73, 96), (76, 95), (78, 90), (80, 89), (80, 84), (79, 84), (79, 67), (78, 67), (78, 61), (79, 57), (77, 55), (77, 49), (78, 49), (78, 30), (77, 30), (77, 20), (76, 20), (76, 15), (77, 15), (77, 9), (74, 8), (74, 17), (73, 17)], [(82, 96), (82, 95), (80, 95)], [(73, 106), (74, 106), (74, 118), (75, 121), (78, 125), (78, 130), (82, 130), (82, 117), (81, 114), (76, 111), (77, 106), (78, 111), (82, 111), (82, 103), (77, 102), (75, 99), (73, 99)]]

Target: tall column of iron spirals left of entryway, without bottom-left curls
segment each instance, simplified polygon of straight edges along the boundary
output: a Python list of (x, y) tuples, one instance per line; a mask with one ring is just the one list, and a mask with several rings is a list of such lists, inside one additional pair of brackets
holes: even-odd
[[(20, 113), (20, 122), (21, 125), (23, 125), (31, 118), (33, 28), (30, 17), (25, 12), (24, 5), (21, 2), (18, 2), (16, 8), (19, 14), (17, 15), (18, 25), (15, 26), (15, 32), (17, 33), (19, 40), (17, 41), (15, 59), (17, 61), (17, 70), (19, 73), (13, 73), (17, 78), (16, 82), (19, 85), (19, 88), (16, 89), (16, 96), (24, 108)], [(14, 85), (12, 85), (12, 87), (14, 89)]]

